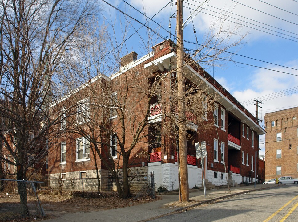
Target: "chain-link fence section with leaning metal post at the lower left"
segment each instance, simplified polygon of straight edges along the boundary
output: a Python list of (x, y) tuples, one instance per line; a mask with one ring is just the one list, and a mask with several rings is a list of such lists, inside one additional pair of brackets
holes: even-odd
[(40, 182), (0, 179), (0, 203), (2, 221), (18, 218), (19, 216), (45, 216), (42, 204), (36, 192)]

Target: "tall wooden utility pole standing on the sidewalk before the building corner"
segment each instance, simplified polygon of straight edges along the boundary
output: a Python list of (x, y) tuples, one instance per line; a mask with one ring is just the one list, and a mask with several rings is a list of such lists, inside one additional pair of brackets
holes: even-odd
[(179, 126), (179, 165), (181, 201), (189, 202), (188, 175), (187, 175), (187, 149), (185, 130), (185, 78), (183, 74), (184, 47), (183, 47), (183, 12), (182, 0), (177, 0), (177, 82), (178, 82), (178, 126)]

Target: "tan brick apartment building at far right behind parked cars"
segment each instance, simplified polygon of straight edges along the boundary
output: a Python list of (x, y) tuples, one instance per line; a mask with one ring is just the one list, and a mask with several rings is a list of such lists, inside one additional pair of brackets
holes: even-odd
[(265, 179), (298, 178), (298, 107), (264, 116), (266, 126)]

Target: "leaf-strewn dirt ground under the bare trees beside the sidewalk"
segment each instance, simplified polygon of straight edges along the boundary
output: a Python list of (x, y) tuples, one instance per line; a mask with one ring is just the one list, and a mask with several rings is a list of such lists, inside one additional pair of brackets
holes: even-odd
[[(70, 193), (63, 192), (60, 196), (53, 191), (42, 191), (38, 194), (46, 213), (46, 219), (61, 215), (61, 213), (71, 212), (86, 212), (108, 210), (114, 208), (123, 208), (137, 204), (148, 203), (160, 199), (159, 197), (153, 199), (149, 196), (131, 197), (129, 199), (119, 199), (115, 196), (98, 196), (97, 198), (86, 197), (71, 197)], [(42, 220), (38, 209), (36, 198), (33, 195), (28, 195), (28, 208), (30, 210), (29, 218), (20, 218), (20, 197), (19, 195), (10, 195), (7, 193), (0, 193), (0, 221), (36, 221)], [(35, 218), (35, 219), (34, 219)]]

